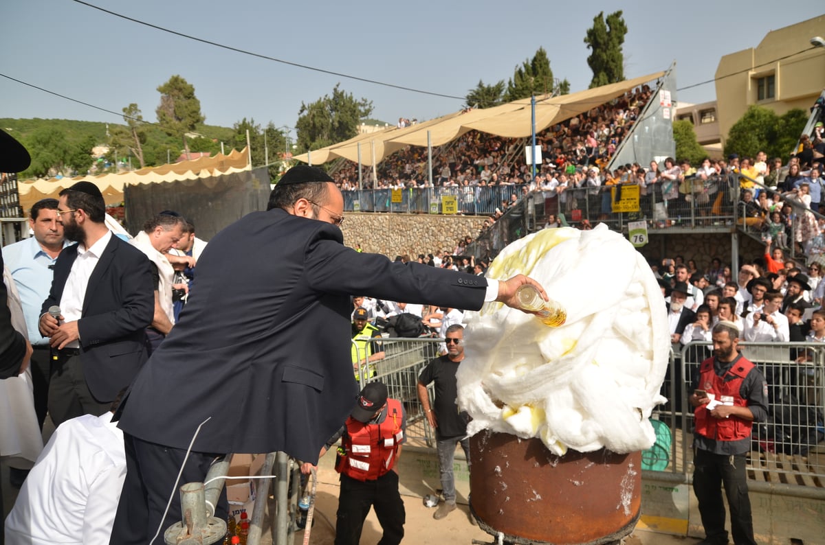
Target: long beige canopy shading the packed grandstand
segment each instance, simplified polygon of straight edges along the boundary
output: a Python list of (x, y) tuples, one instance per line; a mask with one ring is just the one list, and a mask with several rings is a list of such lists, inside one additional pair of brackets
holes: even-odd
[[(540, 133), (551, 125), (562, 123), (578, 114), (613, 100), (625, 92), (662, 77), (665, 72), (655, 72), (624, 82), (579, 91), (570, 95), (541, 95), (535, 98), (535, 132)], [(304, 163), (312, 160), (313, 165), (322, 165), (339, 157), (358, 162), (358, 145), (361, 144), (361, 164), (373, 165), (384, 161), (395, 151), (407, 146), (427, 147), (427, 133), (433, 147), (443, 146), (471, 130), (491, 133), (501, 137), (529, 137), (532, 112), (530, 99), (514, 100), (504, 105), (488, 109), (472, 109), (456, 112), (440, 118), (417, 123), (411, 127), (389, 127), (375, 133), (359, 134), (345, 142), (340, 142), (310, 154), (295, 156)], [(374, 149), (373, 149), (374, 148)]]

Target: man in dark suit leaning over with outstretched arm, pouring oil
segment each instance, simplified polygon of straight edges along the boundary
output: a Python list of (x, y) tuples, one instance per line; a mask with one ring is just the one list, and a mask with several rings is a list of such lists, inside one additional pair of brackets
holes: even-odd
[(128, 473), (111, 543), (145, 545), (179, 520), (178, 471), (183, 466), (181, 484), (203, 481), (214, 453), (282, 450), (317, 463), (358, 394), (350, 294), (473, 310), (485, 300), (517, 306), (525, 283), (544, 294), (523, 275), (488, 286), (482, 277), (356, 252), (337, 227), (343, 207), (329, 175), (295, 166), (266, 212), (210, 240), (197, 291), (121, 405)]

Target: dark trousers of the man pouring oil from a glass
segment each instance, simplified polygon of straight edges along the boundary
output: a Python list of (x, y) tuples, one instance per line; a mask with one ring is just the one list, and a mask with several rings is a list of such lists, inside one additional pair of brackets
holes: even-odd
[[(180, 488), (186, 482), (203, 482), (210, 465), (219, 454), (189, 453), (181, 480), (175, 486), (186, 450), (173, 449), (137, 437), (123, 434), (126, 452), (126, 478), (120, 503), (117, 505), (115, 524), (111, 531), (111, 545), (163, 545), (163, 533), (169, 526), (181, 520)], [(172, 504), (166, 517), (169, 497)], [(226, 520), (229, 505), (226, 488), (220, 493), (214, 516)], [(155, 533), (158, 538), (150, 541)]]

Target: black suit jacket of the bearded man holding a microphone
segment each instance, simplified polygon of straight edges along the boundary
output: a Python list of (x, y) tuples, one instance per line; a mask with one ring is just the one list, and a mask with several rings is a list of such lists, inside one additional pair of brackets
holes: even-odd
[[(67, 246), (60, 252), (42, 313), (52, 305), (60, 305), (68, 273), (77, 258), (78, 245)], [(153, 314), (149, 260), (139, 249), (113, 234), (89, 277), (78, 320), (83, 375), (98, 401), (112, 401), (143, 366), (146, 327)]]

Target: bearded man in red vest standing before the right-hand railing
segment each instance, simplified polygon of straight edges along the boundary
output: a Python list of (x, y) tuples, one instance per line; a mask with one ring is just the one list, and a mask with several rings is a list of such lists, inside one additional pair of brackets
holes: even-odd
[(716, 324), (713, 342), (714, 356), (700, 365), (689, 398), (695, 414), (693, 490), (705, 527), (702, 543), (728, 543), (724, 484), (733, 543), (756, 545), (746, 465), (752, 422), (767, 417), (767, 383), (757, 366), (738, 352), (735, 324)]

